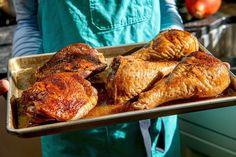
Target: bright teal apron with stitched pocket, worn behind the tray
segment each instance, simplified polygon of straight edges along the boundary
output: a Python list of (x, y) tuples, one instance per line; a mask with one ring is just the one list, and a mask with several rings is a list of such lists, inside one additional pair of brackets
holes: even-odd
[[(40, 0), (44, 53), (71, 43), (93, 47), (148, 42), (160, 30), (155, 0)], [(42, 137), (44, 157), (179, 156), (177, 116)]]

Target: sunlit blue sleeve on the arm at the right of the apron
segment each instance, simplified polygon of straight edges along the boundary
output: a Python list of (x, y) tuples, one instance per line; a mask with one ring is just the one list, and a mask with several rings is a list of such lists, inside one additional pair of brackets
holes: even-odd
[(183, 29), (183, 21), (178, 13), (175, 0), (160, 0), (161, 31), (174, 28)]

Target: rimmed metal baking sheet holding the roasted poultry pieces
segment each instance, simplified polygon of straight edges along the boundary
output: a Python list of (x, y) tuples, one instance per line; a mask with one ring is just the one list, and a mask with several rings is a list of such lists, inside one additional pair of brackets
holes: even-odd
[[(104, 47), (99, 48), (98, 51), (104, 53), (107, 61), (110, 62), (112, 57), (117, 55), (130, 54), (141, 48), (143, 45), (144, 43)], [(201, 49), (205, 52), (208, 52), (202, 46)], [(159, 106), (150, 110), (130, 111), (68, 122), (56, 122), (28, 128), (17, 128), (15, 127), (14, 122), (18, 117), (14, 114), (15, 108), (10, 104), (10, 99), (13, 95), (15, 97), (20, 97), (21, 92), (30, 85), (30, 76), (31, 74), (33, 74), (34, 70), (37, 67), (43, 65), (43, 63), (45, 63), (52, 55), (53, 53), (31, 55), (16, 57), (9, 60), (8, 79), (10, 82), (10, 90), (7, 97), (6, 118), (6, 128), (9, 133), (17, 135), (19, 137), (36, 137), (72, 130), (81, 130), (105, 125), (112, 125), (116, 123), (137, 121), (147, 118), (156, 118), (173, 114), (181, 114), (236, 105), (236, 96), (233, 95), (199, 101), (179, 101), (172, 103), (171, 105)], [(232, 79), (235, 80), (234, 75), (231, 75)]]

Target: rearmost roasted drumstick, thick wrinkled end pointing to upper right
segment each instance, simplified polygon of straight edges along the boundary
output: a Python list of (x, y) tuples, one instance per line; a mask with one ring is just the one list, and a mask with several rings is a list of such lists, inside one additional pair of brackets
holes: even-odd
[(191, 33), (171, 29), (160, 33), (133, 56), (148, 61), (180, 61), (184, 56), (198, 50), (198, 40)]

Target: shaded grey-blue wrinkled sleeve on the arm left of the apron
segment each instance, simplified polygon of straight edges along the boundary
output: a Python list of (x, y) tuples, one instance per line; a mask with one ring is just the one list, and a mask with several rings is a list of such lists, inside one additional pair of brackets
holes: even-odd
[(17, 27), (13, 37), (12, 56), (41, 52), (42, 38), (37, 23), (37, 0), (14, 0)]

